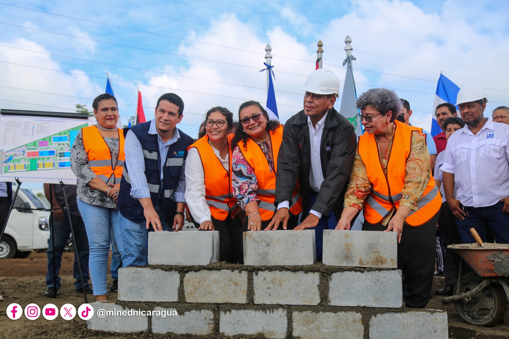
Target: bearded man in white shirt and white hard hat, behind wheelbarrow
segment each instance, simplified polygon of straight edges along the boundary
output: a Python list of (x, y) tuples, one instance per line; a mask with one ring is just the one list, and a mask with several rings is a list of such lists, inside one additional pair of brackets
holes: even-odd
[(486, 241), (486, 226), (496, 242), (509, 243), (509, 125), (484, 117), (487, 102), (479, 86), (460, 89), (457, 105), (466, 125), (445, 148), (445, 197), (463, 243), (475, 242), (472, 227)]

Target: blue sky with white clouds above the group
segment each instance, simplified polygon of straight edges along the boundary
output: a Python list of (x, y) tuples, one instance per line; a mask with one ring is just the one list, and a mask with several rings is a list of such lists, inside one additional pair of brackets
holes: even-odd
[(195, 136), (210, 107), (236, 114), (244, 101), (265, 104), (258, 71), (269, 43), (286, 121), (302, 109), (318, 40), (323, 67), (343, 86), (349, 35), (357, 94), (394, 89), (413, 125), (430, 130), (440, 72), (483, 86), (490, 113), (509, 104), (507, 13), (507, 1), (0, 0), (0, 108), (91, 108), (108, 72), (124, 122), (136, 87), (149, 119), (157, 98), (174, 92), (185, 103), (179, 127)]

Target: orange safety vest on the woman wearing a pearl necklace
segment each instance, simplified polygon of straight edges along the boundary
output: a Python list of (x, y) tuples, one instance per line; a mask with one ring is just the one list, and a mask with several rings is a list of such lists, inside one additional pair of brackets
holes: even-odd
[(84, 127), (81, 129), (83, 136), (83, 146), (89, 157), (88, 165), (90, 169), (104, 182), (108, 182), (112, 174), (115, 174), (115, 183), (120, 183), (122, 172), (124, 170), (124, 133), (119, 131), (119, 159), (113, 167), (111, 161), (111, 152), (104, 141), (101, 133), (95, 126)]

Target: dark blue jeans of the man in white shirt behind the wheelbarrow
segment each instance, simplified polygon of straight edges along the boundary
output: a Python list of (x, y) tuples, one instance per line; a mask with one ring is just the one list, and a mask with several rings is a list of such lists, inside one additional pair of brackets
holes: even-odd
[(509, 243), (509, 213), (502, 213), (502, 201), (486, 207), (466, 207), (464, 210), (465, 220), (456, 219), (456, 226), (460, 232), (462, 243), (475, 242), (470, 229), (473, 227), (479, 233), (483, 241), (486, 241), (486, 226), (489, 226), (497, 243)]

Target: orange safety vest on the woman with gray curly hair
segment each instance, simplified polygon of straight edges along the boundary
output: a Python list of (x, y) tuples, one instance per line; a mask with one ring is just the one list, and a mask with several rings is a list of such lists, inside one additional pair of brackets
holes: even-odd
[[(387, 174), (382, 169), (375, 136), (364, 133), (359, 138), (359, 155), (366, 166), (367, 177), (372, 183), (371, 192), (364, 201), (363, 208), (364, 219), (370, 224), (381, 223), (389, 212), (400, 207), (405, 185), (406, 160), (410, 155), (412, 132), (415, 128), (400, 121), (394, 122), (396, 131), (387, 160)], [(434, 217), (441, 204), (442, 197), (431, 176), (422, 197), (417, 202), (417, 210), (410, 212), (405, 222), (414, 227), (423, 225)]]

